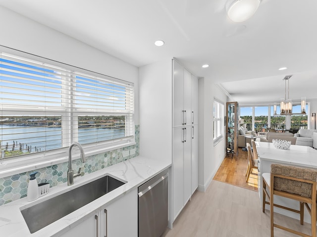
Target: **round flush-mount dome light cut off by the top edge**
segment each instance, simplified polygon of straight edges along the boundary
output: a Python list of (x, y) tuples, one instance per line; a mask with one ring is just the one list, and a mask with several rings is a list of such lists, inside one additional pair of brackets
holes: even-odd
[(233, 22), (244, 22), (257, 11), (260, 0), (230, 0), (227, 2), (227, 14)]

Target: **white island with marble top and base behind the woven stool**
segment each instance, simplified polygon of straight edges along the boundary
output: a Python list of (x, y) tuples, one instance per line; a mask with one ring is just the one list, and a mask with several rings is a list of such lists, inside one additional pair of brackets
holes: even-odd
[[(308, 146), (291, 145), (288, 149), (277, 149), (272, 143), (256, 141), (256, 148), (258, 151), (258, 184), (259, 184), (259, 196), (262, 203), (263, 198), (263, 185), (262, 174), (270, 172), (270, 165), (283, 164), (302, 168), (310, 168), (317, 170), (317, 150)], [(285, 198), (274, 197), (274, 203), (281, 204), (290, 208), (299, 209), (299, 202)], [(266, 209), (269, 210), (269, 205), (266, 205)], [(297, 213), (287, 211), (281, 208), (274, 207), (274, 212), (286, 215), (295, 219), (299, 219), (300, 216)], [(304, 221), (311, 222), (311, 217), (307, 210), (304, 210)]]

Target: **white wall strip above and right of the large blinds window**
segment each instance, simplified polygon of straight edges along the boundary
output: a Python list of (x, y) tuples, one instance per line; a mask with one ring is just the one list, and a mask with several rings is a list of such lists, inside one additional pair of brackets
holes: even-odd
[[(3, 46), (133, 82), (135, 123), (139, 124), (137, 67), (1, 6), (0, 22), (0, 44)], [(0, 50), (25, 57), (14, 50), (3, 47)]]

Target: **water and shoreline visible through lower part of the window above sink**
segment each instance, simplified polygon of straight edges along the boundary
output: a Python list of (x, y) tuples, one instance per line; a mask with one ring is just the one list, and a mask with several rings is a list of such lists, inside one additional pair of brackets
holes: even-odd
[[(1, 117), (0, 128), (0, 158), (62, 147), (61, 117)], [(79, 117), (78, 141), (81, 144), (122, 137), (125, 137), (125, 116)]]

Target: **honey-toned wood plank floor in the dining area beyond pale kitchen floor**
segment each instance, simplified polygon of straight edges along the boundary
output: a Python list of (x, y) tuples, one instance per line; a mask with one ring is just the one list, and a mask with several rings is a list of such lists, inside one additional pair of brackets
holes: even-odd
[(213, 177), (214, 180), (236, 185), (242, 188), (258, 191), (258, 172), (253, 169), (248, 182), (246, 182), (246, 172), (248, 167), (248, 152), (239, 148), (238, 155), (233, 158), (225, 157)]

